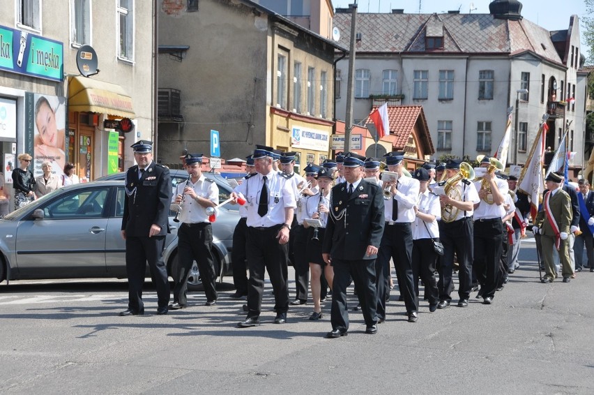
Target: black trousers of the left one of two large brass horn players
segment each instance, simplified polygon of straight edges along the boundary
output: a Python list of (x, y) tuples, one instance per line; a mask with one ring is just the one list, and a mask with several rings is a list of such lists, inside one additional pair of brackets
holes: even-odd
[(454, 253), (459, 264), (458, 296), (460, 299), (469, 299), (474, 253), (472, 218), (466, 217), (450, 223), (439, 221), (439, 241), (445, 250), (439, 260), (439, 281), (437, 282), (439, 299), (452, 299), (450, 293), (454, 289), (454, 281), (452, 281)]

